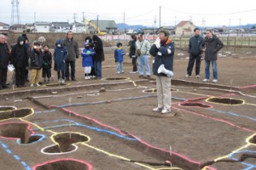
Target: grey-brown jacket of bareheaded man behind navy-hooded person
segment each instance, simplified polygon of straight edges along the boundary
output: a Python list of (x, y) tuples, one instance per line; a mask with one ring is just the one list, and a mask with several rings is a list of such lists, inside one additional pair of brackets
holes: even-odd
[(67, 61), (75, 61), (76, 58), (79, 58), (79, 43), (73, 38), (66, 38), (64, 41), (64, 46), (67, 48), (68, 55)]

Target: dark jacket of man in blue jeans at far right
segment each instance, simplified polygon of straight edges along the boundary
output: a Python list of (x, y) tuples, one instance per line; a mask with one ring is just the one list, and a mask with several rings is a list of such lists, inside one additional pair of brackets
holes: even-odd
[(205, 60), (217, 60), (218, 51), (224, 47), (223, 42), (221, 42), (215, 35), (212, 38), (205, 37), (204, 41), (201, 43), (201, 49), (206, 48)]

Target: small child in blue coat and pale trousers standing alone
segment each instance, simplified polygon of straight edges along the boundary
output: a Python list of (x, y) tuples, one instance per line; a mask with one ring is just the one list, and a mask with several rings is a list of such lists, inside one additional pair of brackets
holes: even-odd
[(117, 48), (114, 50), (114, 60), (115, 60), (115, 65), (116, 65), (116, 73), (120, 74), (120, 73), (124, 73), (124, 69), (123, 69), (123, 60), (124, 57), (124, 50), (122, 48), (123, 44), (121, 42), (118, 42), (116, 44)]

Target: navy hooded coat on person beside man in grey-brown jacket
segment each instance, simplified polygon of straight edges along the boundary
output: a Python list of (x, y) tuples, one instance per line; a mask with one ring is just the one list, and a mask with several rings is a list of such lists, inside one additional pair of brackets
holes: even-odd
[[(57, 47), (57, 44), (61, 44), (61, 47)], [(55, 46), (55, 71), (66, 71), (67, 48), (64, 47), (63, 40), (61, 39), (57, 39)]]

